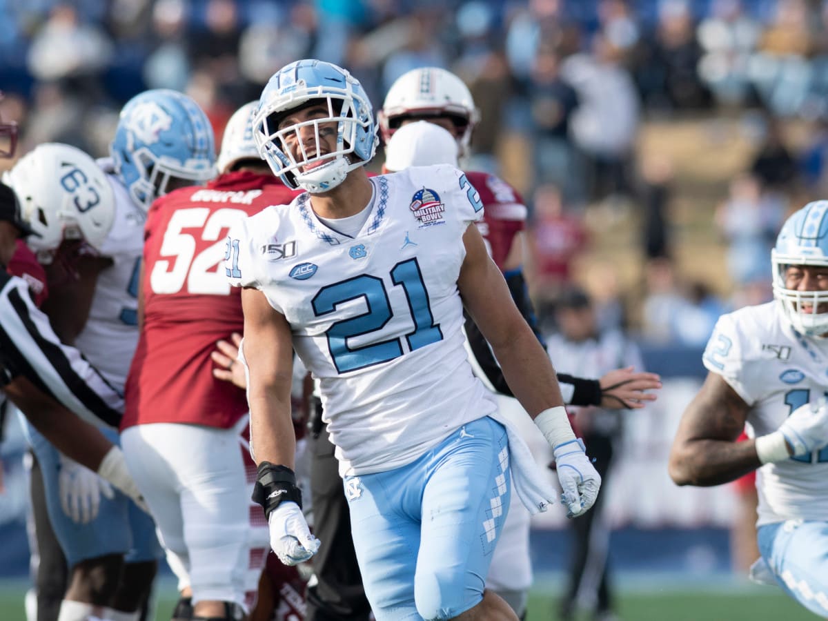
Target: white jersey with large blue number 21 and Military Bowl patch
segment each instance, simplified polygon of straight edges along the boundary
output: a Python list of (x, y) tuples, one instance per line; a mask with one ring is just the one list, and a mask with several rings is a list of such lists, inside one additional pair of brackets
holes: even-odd
[(371, 183), (354, 238), (302, 194), (234, 225), (225, 262), (233, 285), (261, 290), (291, 325), (342, 475), (406, 465), (495, 410), (466, 358), (457, 291), (463, 234), (483, 215), (476, 190), (451, 166)]

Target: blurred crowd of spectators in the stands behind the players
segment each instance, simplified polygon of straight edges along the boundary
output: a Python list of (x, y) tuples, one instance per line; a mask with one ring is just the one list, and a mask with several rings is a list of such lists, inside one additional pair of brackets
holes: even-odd
[[(590, 251), (589, 210), (604, 205), (612, 225), (632, 205), (643, 304), (631, 318), (611, 269), (595, 298), (605, 325), (655, 342), (701, 346), (721, 312), (769, 299), (778, 227), (828, 188), (822, 0), (0, 0), (0, 110), (22, 153), (59, 141), (105, 155), (118, 109), (148, 88), (190, 94), (220, 140), (229, 114), (302, 57), (349, 68), (375, 108), (416, 66), (469, 84), (482, 118), (469, 167), (524, 192), (542, 309)], [(746, 111), (753, 154), (710, 223), (725, 294), (676, 269), (675, 171), (642, 161), (638, 139), (650, 119)], [(789, 123), (806, 140), (792, 144)]]

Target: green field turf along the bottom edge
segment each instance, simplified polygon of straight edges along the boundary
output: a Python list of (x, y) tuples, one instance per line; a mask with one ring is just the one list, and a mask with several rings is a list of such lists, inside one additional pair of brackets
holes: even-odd
[[(552, 582), (538, 585), (529, 600), (527, 621), (556, 621), (556, 588)], [(23, 614), (23, 594), (26, 584), (21, 581), (0, 582), (0, 619), (26, 621)], [(158, 590), (156, 621), (168, 621), (176, 602), (171, 581), (162, 583)], [(623, 589), (619, 594), (619, 619), (623, 621), (813, 621), (819, 619), (809, 613), (781, 590), (753, 585), (711, 585), (708, 588), (693, 585), (686, 590), (671, 585), (652, 590), (637, 585)], [(589, 621), (583, 615), (579, 621)]]

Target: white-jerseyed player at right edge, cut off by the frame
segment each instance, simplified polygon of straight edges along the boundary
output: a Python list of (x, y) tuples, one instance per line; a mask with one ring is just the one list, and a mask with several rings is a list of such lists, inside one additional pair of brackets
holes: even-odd
[(756, 469), (751, 575), (828, 617), (828, 201), (787, 219), (771, 260), (774, 301), (716, 324), (669, 470), (680, 485), (718, 485)]

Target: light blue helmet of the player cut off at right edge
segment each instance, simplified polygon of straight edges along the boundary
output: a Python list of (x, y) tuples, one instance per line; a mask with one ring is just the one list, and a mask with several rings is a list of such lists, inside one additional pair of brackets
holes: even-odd
[[(788, 266), (828, 267), (828, 200), (808, 203), (786, 220), (771, 251), (771, 262), (773, 297), (782, 304), (793, 329), (805, 335), (828, 333), (828, 291), (797, 291), (785, 287)], [(803, 311), (806, 306), (811, 306), (811, 310)]]

